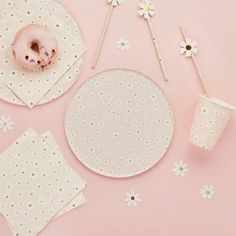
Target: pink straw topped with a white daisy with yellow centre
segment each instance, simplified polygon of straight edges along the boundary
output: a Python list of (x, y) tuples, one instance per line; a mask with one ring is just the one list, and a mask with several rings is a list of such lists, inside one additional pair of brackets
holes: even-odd
[(154, 33), (153, 25), (152, 25), (152, 22), (151, 22), (151, 19), (150, 19), (151, 17), (153, 17), (155, 15), (155, 7), (151, 3), (150, 0), (141, 0), (139, 2), (138, 6), (140, 8), (140, 10), (138, 11), (138, 14), (140, 16), (144, 17), (144, 19), (148, 23), (149, 31), (150, 31), (152, 41), (153, 41), (153, 44), (154, 44), (154, 47), (155, 47), (155, 52), (156, 52), (159, 64), (161, 66), (162, 75), (164, 77), (164, 80), (168, 81), (164, 61), (162, 59), (161, 52), (160, 52), (160, 49), (159, 49), (159, 45), (158, 45), (158, 42), (157, 42), (157, 37), (156, 37), (156, 34)]

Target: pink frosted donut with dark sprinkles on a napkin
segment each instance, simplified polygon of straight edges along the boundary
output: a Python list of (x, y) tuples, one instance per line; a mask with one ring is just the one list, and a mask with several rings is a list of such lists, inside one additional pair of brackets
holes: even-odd
[(29, 71), (44, 70), (55, 63), (58, 43), (46, 27), (28, 25), (16, 34), (13, 55), (17, 64)]

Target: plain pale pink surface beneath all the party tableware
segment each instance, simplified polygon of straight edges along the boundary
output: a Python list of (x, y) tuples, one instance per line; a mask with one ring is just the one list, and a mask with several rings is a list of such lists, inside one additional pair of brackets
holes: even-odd
[[(153, 0), (157, 8), (153, 22), (170, 78), (168, 83), (162, 80), (146, 23), (137, 15), (138, 1), (126, 0), (114, 11), (95, 71), (90, 66), (108, 10), (106, 1), (64, 2), (78, 19), (88, 48), (78, 83), (59, 100), (32, 111), (0, 102), (0, 115), (9, 115), (15, 122), (12, 132), (0, 132), (0, 151), (29, 127), (38, 132), (51, 130), (68, 163), (88, 182), (88, 203), (55, 220), (40, 236), (236, 235), (235, 115), (214, 151), (202, 151), (188, 142), (201, 88), (191, 61), (178, 55), (182, 40), (178, 27), (183, 23), (199, 43), (198, 60), (212, 93), (236, 104), (235, 0)], [(120, 36), (130, 40), (132, 47), (128, 52), (115, 49)], [(70, 151), (64, 135), (66, 105), (81, 82), (95, 72), (115, 67), (135, 69), (157, 81), (170, 99), (176, 120), (167, 155), (147, 173), (126, 180), (104, 178), (87, 170)], [(171, 171), (173, 163), (181, 159), (190, 170), (184, 178)], [(215, 186), (216, 195), (210, 201), (200, 196), (204, 184)], [(136, 208), (128, 208), (125, 194), (133, 189), (141, 194), (142, 202)], [(3, 218), (0, 235), (10, 236)]]

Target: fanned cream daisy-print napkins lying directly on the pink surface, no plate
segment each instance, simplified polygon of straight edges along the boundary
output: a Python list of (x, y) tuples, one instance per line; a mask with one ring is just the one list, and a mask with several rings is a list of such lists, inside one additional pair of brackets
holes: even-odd
[(0, 212), (14, 233), (36, 236), (82, 205), (86, 182), (65, 162), (54, 138), (25, 132), (0, 155)]

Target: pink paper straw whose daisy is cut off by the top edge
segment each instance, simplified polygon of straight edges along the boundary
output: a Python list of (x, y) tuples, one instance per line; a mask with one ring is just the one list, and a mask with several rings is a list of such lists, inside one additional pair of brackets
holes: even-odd
[(115, 7), (120, 6), (123, 3), (123, 0), (108, 0), (107, 2), (110, 4), (110, 8), (109, 8), (106, 20), (105, 20), (105, 24), (103, 26), (103, 30), (101, 33), (100, 41), (97, 46), (96, 54), (93, 59), (92, 69), (95, 69), (97, 66), (98, 58), (99, 58), (101, 50), (102, 50), (102, 46), (103, 46), (104, 39), (105, 39), (107, 30), (108, 30), (108, 26), (111, 21), (111, 16), (112, 16), (113, 10)]

